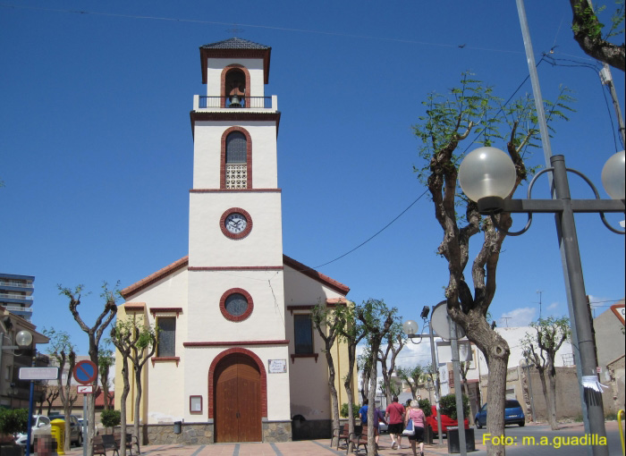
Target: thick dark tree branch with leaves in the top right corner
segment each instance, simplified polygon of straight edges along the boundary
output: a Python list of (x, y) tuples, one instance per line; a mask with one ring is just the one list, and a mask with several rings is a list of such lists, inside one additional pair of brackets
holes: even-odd
[(617, 11), (611, 16), (611, 25), (605, 27), (597, 16), (605, 9), (604, 6), (594, 11), (590, 0), (570, 0), (573, 16), (571, 30), (585, 54), (623, 72), (626, 68), (626, 47), (623, 41), (621, 45), (610, 41), (613, 37), (623, 39), (624, 1), (618, 0), (616, 4)]

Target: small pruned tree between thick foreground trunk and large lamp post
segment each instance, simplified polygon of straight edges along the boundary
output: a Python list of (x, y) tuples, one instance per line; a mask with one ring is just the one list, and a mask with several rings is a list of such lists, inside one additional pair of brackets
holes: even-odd
[[(563, 342), (570, 340), (571, 327), (568, 317), (539, 318), (530, 326), (534, 331), (526, 333), (522, 339), (524, 355), (537, 367), (541, 388), (546, 398), (547, 419), (553, 430), (559, 428), (556, 422), (556, 367), (554, 359)], [(547, 378), (546, 378), (547, 374)]]

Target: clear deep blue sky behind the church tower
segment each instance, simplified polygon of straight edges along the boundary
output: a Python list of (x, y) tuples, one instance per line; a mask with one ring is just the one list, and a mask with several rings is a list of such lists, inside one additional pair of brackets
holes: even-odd
[[(623, 145), (597, 65), (572, 38), (569, 2), (527, 0), (526, 11), (543, 97), (563, 85), (577, 98), (569, 122), (554, 125), (553, 154), (608, 198), (600, 173)], [(532, 91), (514, 2), (3, 1), (0, 272), (36, 277), (33, 323), (68, 332), (80, 354), (87, 336), (59, 284), (91, 291), (79, 310), (93, 325), (103, 282), (123, 288), (188, 254), (189, 112), (206, 95), (199, 46), (233, 36), (272, 46), (283, 252), (404, 319), (419, 320), (448, 282), (442, 231), (413, 172), (421, 102), (462, 72), (503, 99)], [(613, 79), (623, 109), (624, 73)], [(542, 150), (528, 163), (545, 166)], [(576, 176), (571, 188), (592, 198)], [(533, 197), (548, 198), (546, 179)], [(576, 223), (599, 315), (624, 296), (624, 238), (598, 215)], [(552, 215), (504, 242), (490, 314), (527, 325), (539, 308), (567, 314)]]

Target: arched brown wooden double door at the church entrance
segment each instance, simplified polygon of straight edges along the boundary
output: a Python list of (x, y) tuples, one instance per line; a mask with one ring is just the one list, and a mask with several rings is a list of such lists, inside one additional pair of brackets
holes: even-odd
[(261, 442), (261, 375), (248, 356), (234, 353), (215, 372), (215, 441)]

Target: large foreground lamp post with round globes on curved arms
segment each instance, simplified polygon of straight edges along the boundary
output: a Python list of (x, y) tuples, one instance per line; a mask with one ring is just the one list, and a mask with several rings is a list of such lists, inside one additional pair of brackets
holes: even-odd
[[(535, 212), (556, 214), (556, 231), (564, 251), (565, 286), (571, 293), (570, 319), (578, 335), (580, 402), (588, 415), (586, 432), (601, 438), (606, 437), (602, 390), (596, 374), (596, 343), (588, 313), (574, 213), (599, 214), (609, 230), (624, 233), (609, 225), (604, 215), (605, 212), (624, 212), (624, 151), (611, 156), (602, 171), (605, 190), (613, 199), (600, 199), (596, 187), (584, 174), (565, 167), (563, 156), (551, 156), (550, 164), (552, 167), (537, 173), (530, 182), (528, 198), (510, 199), (507, 197), (515, 185), (515, 167), (511, 158), (497, 148), (477, 148), (461, 162), (459, 183), (465, 195), (478, 203), (478, 211), (489, 215), (495, 227), (506, 234), (519, 235), (527, 232)], [(568, 171), (578, 174), (587, 182), (596, 199), (571, 199)], [(533, 185), (543, 173), (552, 173), (554, 199), (531, 198)], [(495, 215), (501, 212), (527, 213), (529, 221), (520, 232), (506, 232), (498, 226), (495, 219)], [(608, 455), (608, 447), (594, 445), (593, 453), (596, 456)]]

